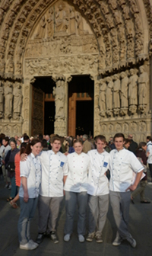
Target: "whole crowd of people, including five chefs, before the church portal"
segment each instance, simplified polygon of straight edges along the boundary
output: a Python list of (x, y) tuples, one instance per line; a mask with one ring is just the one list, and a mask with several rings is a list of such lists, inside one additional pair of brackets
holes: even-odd
[[(78, 240), (103, 242), (109, 202), (116, 222), (116, 238), (112, 245), (127, 240), (135, 248), (136, 241), (128, 232), (129, 204), (140, 194), (141, 203), (150, 203), (144, 196), (147, 185), (147, 164), (152, 184), (152, 139), (134, 142), (116, 133), (109, 142), (103, 135), (61, 137), (39, 134), (9, 138), (0, 134), (0, 174), (5, 188), (11, 190), (7, 201), (14, 209), (20, 200), (18, 220), (20, 248), (33, 250), (46, 236), (54, 243), (59, 207), (65, 196), (64, 241), (71, 239), (74, 213), (78, 205)], [(138, 186), (139, 184), (139, 186)], [(30, 221), (38, 205), (38, 235), (30, 238)]]

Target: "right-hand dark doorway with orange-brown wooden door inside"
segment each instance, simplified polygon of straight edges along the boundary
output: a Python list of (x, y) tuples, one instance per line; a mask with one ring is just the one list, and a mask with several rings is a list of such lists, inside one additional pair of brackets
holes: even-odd
[(68, 85), (68, 136), (93, 135), (93, 91), (90, 75), (72, 75)]

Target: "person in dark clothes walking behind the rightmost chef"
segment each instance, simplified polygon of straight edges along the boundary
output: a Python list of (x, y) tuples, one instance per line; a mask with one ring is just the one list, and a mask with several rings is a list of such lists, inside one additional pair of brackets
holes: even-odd
[(144, 197), (144, 190), (147, 186), (147, 170), (146, 170), (146, 165), (147, 165), (147, 156), (146, 156), (146, 150), (147, 150), (147, 145), (146, 142), (140, 142), (138, 150), (136, 152), (136, 156), (139, 158), (139, 161), (141, 160), (142, 164), (144, 165), (144, 178), (140, 181), (140, 186), (131, 194), (131, 202), (134, 202), (135, 197), (137, 197), (138, 194), (140, 194), (141, 197), (141, 203), (150, 203), (150, 201), (146, 200)]

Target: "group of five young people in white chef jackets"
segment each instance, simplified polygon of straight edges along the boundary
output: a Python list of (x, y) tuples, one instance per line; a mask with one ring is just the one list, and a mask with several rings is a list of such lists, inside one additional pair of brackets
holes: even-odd
[[(55, 233), (59, 207), (65, 194), (64, 241), (71, 239), (74, 213), (78, 205), (78, 240), (84, 242), (86, 235), (87, 206), (89, 223), (86, 240), (103, 242), (102, 232), (106, 222), (109, 200), (116, 221), (117, 233), (112, 245), (127, 240), (135, 248), (136, 241), (128, 232), (129, 204), (131, 190), (135, 190), (144, 170), (138, 158), (124, 148), (122, 133), (114, 136), (116, 149), (110, 153), (104, 150), (105, 136), (96, 137), (97, 149), (82, 152), (81, 139), (74, 141), (74, 152), (67, 156), (59, 152), (61, 141), (52, 138), (52, 150), (41, 151), (39, 139), (28, 144), (27, 155), (21, 155), (21, 216), (18, 221), (20, 248), (33, 250), (49, 235), (58, 243)], [(110, 180), (106, 171), (110, 171)], [(133, 171), (136, 173), (133, 181)], [(38, 236), (36, 242), (30, 239), (30, 220), (38, 203)]]

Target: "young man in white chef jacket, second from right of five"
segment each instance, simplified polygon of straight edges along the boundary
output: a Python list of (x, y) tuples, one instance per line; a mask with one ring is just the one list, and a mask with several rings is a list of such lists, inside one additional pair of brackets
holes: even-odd
[(87, 194), (89, 194), (89, 228), (86, 240), (103, 242), (102, 231), (106, 222), (109, 207), (109, 180), (106, 171), (109, 168), (109, 153), (105, 151), (106, 138), (103, 135), (96, 137), (97, 149), (90, 150), (90, 169)]

